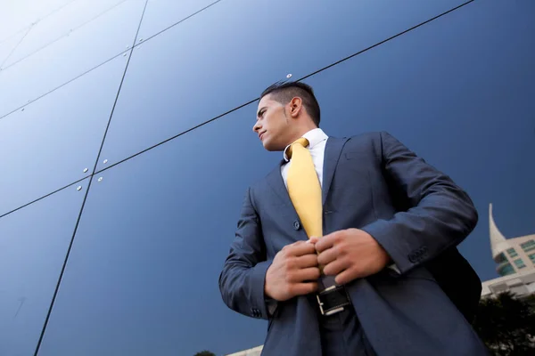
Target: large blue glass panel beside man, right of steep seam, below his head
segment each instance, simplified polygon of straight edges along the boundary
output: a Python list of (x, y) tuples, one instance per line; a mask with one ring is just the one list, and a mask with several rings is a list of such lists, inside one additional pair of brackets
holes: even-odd
[(98, 174), (39, 356), (220, 355), (263, 343), (267, 323), (230, 311), (218, 290), (246, 186), (280, 158), (252, 134), (253, 112)]

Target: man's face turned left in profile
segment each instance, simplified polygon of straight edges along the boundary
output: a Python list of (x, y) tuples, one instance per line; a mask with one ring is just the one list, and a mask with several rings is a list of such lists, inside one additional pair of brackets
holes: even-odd
[(287, 110), (290, 105), (283, 105), (264, 96), (259, 101), (257, 121), (252, 127), (266, 150), (284, 150), (292, 137), (292, 116)]

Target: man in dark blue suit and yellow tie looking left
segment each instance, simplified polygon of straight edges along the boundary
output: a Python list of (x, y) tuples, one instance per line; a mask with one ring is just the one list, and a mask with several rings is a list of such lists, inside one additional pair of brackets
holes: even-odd
[(328, 137), (312, 88), (270, 86), (253, 130), (280, 166), (246, 192), (219, 277), (268, 321), (266, 355), (481, 355), (481, 281), (457, 252), (477, 213), (387, 133)]

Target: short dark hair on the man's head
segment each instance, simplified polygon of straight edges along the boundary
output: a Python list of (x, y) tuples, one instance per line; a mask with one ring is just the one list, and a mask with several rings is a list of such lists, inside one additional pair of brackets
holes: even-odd
[(320, 110), (317, 103), (314, 90), (310, 85), (306, 85), (301, 82), (277, 82), (273, 85), (269, 85), (266, 90), (260, 95), (260, 99), (264, 96), (271, 94), (273, 100), (282, 104), (287, 104), (294, 97), (299, 96), (303, 101), (303, 106), (307, 109), (309, 116), (312, 118), (314, 124), (319, 127)]

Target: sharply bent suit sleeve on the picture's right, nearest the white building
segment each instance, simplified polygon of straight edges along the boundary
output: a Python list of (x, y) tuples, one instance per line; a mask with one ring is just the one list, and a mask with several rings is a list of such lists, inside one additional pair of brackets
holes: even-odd
[(381, 133), (383, 174), (408, 208), (390, 220), (362, 228), (379, 242), (400, 273), (457, 246), (473, 231), (478, 214), (472, 200), (446, 174), (425, 163), (391, 134)]

